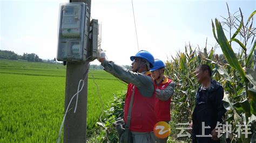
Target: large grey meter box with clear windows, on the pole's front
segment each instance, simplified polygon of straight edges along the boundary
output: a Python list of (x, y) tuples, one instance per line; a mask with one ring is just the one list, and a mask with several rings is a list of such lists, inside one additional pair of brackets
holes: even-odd
[(83, 2), (63, 3), (59, 8), (58, 61), (84, 61), (89, 26), (89, 8)]

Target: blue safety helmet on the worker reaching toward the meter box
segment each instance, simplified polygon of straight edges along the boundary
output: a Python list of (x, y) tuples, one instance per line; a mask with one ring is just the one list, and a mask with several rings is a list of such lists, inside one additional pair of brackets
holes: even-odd
[(133, 61), (135, 58), (142, 58), (150, 63), (150, 68), (154, 66), (154, 56), (147, 51), (141, 50), (136, 55), (131, 56), (130, 59)]

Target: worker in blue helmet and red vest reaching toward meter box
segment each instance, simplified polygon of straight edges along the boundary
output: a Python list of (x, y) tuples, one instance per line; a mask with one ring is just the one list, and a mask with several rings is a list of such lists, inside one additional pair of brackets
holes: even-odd
[(105, 71), (128, 83), (124, 117), (113, 124), (118, 131), (119, 142), (155, 142), (153, 128), (157, 123), (154, 111), (156, 94), (149, 71), (154, 65), (153, 55), (142, 50), (131, 56), (130, 70), (106, 60), (104, 52), (99, 53), (98, 60)]

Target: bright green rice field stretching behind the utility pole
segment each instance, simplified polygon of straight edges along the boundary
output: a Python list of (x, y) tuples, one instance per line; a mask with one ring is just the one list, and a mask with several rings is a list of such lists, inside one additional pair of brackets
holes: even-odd
[[(64, 116), (65, 66), (54, 63), (0, 60), (0, 142), (56, 142)], [(89, 72), (87, 133), (113, 94), (126, 89), (104, 70)], [(82, 95), (80, 95), (82, 96)]]

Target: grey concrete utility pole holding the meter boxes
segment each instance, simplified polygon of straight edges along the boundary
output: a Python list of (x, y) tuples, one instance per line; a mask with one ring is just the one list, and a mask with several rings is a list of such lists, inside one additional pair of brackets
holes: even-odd
[[(84, 2), (89, 7), (91, 13), (91, 0), (69, 0), (72, 2)], [(90, 17), (87, 23), (88, 31), (90, 30)], [(89, 47), (89, 38), (87, 38), (87, 45)], [(65, 111), (68, 108), (70, 99), (77, 92), (79, 80), (84, 78), (87, 71), (89, 61), (82, 62), (67, 62), (66, 63), (66, 91), (65, 91)], [(66, 114), (64, 123), (64, 142), (86, 142), (86, 112), (87, 112), (87, 77), (84, 80), (84, 88), (79, 93), (77, 110), (74, 113), (76, 105), (76, 97), (70, 104), (69, 112)]]

